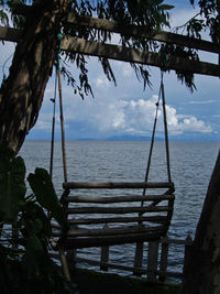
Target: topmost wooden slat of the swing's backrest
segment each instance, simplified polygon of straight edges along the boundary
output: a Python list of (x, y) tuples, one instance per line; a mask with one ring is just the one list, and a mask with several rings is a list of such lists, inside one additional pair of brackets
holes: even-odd
[(145, 182), (68, 182), (63, 184), (64, 189), (76, 188), (173, 188), (173, 183), (145, 183)]

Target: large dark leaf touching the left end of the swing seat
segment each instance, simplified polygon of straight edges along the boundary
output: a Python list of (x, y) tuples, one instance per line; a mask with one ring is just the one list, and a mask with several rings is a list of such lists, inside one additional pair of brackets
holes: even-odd
[(61, 226), (64, 226), (65, 211), (58, 202), (47, 171), (44, 168), (35, 168), (35, 174), (30, 174), (28, 181), (38, 204), (47, 209)]

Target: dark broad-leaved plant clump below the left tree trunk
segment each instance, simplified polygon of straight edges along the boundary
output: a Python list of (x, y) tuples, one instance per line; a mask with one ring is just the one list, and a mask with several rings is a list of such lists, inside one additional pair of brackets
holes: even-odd
[[(62, 226), (64, 210), (57, 200), (51, 177), (36, 168), (28, 181), (33, 194), (25, 196), (25, 165), (10, 150), (0, 146), (0, 220), (1, 227), (13, 224), (16, 235), (1, 228), (0, 292), (8, 293), (76, 293), (61, 269), (50, 258), (51, 216)], [(45, 213), (47, 210), (47, 214)]]

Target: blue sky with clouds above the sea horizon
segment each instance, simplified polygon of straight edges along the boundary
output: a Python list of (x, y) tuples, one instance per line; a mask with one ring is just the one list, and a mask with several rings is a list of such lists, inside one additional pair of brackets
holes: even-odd
[[(176, 6), (172, 12), (172, 26), (184, 24), (198, 11), (198, 8), (193, 9), (187, 0), (167, 0), (166, 3)], [(14, 47), (13, 43), (6, 42), (4, 45), (0, 43), (0, 80), (3, 73), (8, 74)], [(217, 63), (218, 56), (202, 53), (201, 58)], [(151, 137), (161, 83), (160, 69), (150, 67), (153, 86), (143, 90), (143, 83), (136, 79), (128, 63), (111, 61), (111, 65), (117, 78), (117, 87), (106, 78), (97, 58), (89, 58), (89, 81), (95, 98), (88, 96), (81, 100), (79, 96), (74, 95), (70, 87), (67, 87), (66, 81), (63, 81), (67, 140)], [(76, 68), (72, 67), (70, 70), (77, 76)], [(195, 81), (197, 90), (191, 94), (185, 85), (177, 81), (174, 72), (164, 75), (169, 138), (170, 140), (220, 141), (220, 80), (217, 77), (196, 75)], [(28, 139), (51, 139), (53, 117), (51, 98), (54, 98), (54, 76), (47, 84), (38, 120)], [(55, 138), (61, 139), (58, 104), (56, 110)], [(158, 115), (157, 137), (161, 137), (163, 133), (161, 109)]]

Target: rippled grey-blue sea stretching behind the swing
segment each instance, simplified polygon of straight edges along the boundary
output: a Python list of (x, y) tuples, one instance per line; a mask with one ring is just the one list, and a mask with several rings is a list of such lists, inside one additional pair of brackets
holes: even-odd
[[(148, 141), (67, 141), (68, 181), (143, 182), (150, 144)], [(219, 142), (169, 142), (172, 181), (176, 189), (169, 238), (194, 238), (219, 148)], [(19, 155), (25, 160), (26, 174), (33, 173), (35, 167), (48, 170), (51, 142), (25, 141)], [(167, 181), (165, 144), (162, 141), (154, 144), (148, 181)], [(58, 196), (63, 192), (63, 182), (62, 144), (56, 141), (53, 183)], [(100, 251), (82, 249), (77, 254), (96, 260)], [(183, 246), (170, 248), (170, 271), (183, 270)], [(133, 244), (114, 246), (110, 251), (111, 263), (132, 265), (133, 257)], [(143, 262), (146, 262), (146, 257)]]

